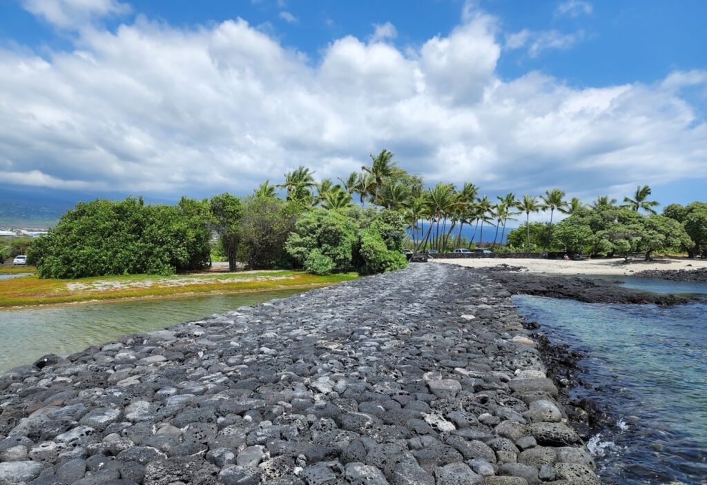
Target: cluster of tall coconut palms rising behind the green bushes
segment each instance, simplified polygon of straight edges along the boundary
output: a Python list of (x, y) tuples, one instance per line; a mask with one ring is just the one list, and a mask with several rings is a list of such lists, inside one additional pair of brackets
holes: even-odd
[[(372, 203), (401, 211), (415, 252), (427, 248), (445, 251), (450, 246), (459, 247), (464, 226), (474, 227), (471, 238), (465, 240), (469, 247), (475, 244), (477, 234), (478, 244), (482, 244), (484, 226), (495, 227), (491, 244), (495, 247), (497, 242), (504, 240), (506, 223), (517, 220), (515, 216), (522, 214), (525, 214), (527, 250), (530, 251), (530, 214), (549, 210), (549, 235), (544, 241), (545, 251), (551, 239), (555, 211), (571, 215), (586, 207), (578, 198), (565, 200), (566, 193), (559, 188), (546, 191), (543, 196), (523, 195), (518, 199), (514, 193), (507, 193), (506, 196), (496, 197), (495, 202), (488, 196), (479, 196), (479, 188), (469, 182), (459, 190), (454, 184), (443, 182), (425, 190), (422, 179), (398, 167), (393, 157), (395, 155), (388, 150), (370, 155), (370, 165), (361, 167), (361, 172), (351, 172), (345, 178), (339, 178), (340, 184), (334, 184), (332, 179), (317, 182), (314, 172), (300, 166), (286, 173), (282, 184), (274, 186), (265, 181), (255, 190), (255, 196), (276, 197), (278, 188), (284, 188), (287, 200), (304, 207), (320, 205), (328, 210), (341, 210), (353, 205), (354, 196), (358, 196), (363, 207), (366, 203)], [(658, 203), (647, 200), (650, 193), (649, 186), (639, 186), (633, 198), (624, 198), (626, 205), (623, 207), (655, 213), (653, 207)], [(616, 199), (602, 196), (590, 207), (601, 208), (616, 203)]]

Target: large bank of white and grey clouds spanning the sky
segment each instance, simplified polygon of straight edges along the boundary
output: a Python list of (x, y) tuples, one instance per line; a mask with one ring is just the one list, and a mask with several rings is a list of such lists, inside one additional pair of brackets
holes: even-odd
[(707, 125), (680, 89), (707, 85), (705, 71), (599, 88), (504, 79), (499, 36), (473, 11), (417, 48), (347, 36), (312, 61), (242, 19), (138, 17), (81, 30), (68, 51), (0, 47), (0, 179), (250, 193), (300, 164), (343, 176), (382, 148), (428, 181), (484, 191), (593, 198), (707, 176)]

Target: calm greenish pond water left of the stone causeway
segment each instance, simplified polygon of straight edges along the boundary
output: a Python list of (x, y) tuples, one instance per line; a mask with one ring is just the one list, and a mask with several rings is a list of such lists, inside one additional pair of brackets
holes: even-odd
[(0, 373), (32, 364), (45, 354), (71, 354), (122, 335), (149, 332), (300, 292), (219, 294), (0, 311)]

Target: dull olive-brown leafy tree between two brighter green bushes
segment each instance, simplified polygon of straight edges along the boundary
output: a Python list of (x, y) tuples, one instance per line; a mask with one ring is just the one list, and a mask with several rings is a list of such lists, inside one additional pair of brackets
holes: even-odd
[(288, 268), (285, 242), (295, 229), (300, 206), (277, 198), (249, 197), (240, 215), (238, 256), (251, 270)]

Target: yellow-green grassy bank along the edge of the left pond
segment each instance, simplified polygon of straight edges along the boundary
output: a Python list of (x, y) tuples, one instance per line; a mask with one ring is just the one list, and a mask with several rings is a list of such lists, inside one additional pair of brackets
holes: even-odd
[(0, 281), (0, 310), (84, 302), (312, 289), (354, 280), (357, 277), (355, 273), (316, 276), (300, 271), (169, 277), (128, 275), (78, 280), (40, 280), (30, 275)]

